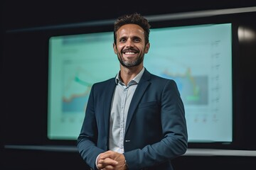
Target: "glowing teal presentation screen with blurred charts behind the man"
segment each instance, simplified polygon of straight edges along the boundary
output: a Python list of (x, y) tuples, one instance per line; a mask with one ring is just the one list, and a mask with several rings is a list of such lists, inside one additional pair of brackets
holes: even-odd
[[(152, 28), (149, 42), (144, 67), (176, 81), (188, 142), (232, 142), (231, 23)], [(77, 140), (92, 84), (119, 71), (112, 45), (112, 31), (49, 39), (49, 140)]]

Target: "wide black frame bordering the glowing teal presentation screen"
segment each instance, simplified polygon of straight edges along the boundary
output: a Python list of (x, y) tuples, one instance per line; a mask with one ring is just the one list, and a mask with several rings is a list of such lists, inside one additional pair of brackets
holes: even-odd
[[(223, 143), (223, 142), (213, 142), (213, 143), (188, 143), (188, 148), (210, 148), (210, 149), (256, 149), (254, 145), (253, 138), (251, 139), (250, 127), (252, 125), (252, 118), (254, 115), (246, 115), (250, 109), (252, 109), (252, 101), (248, 98), (247, 102), (250, 105), (248, 106), (245, 101), (241, 103), (241, 94), (242, 97), (245, 97), (247, 92), (245, 89), (244, 83), (240, 80), (243, 79), (243, 73), (247, 72), (247, 69), (241, 68), (241, 62), (243, 67), (245, 67), (245, 61), (242, 59), (241, 54), (245, 52), (245, 47), (241, 47), (241, 42), (238, 40), (238, 28), (242, 25), (252, 26), (250, 18), (255, 16), (256, 13), (229, 13), (229, 14), (220, 14), (217, 16), (201, 16), (196, 18), (171, 18), (161, 21), (152, 21), (151, 28), (162, 28), (165, 26), (191, 26), (191, 25), (200, 25), (208, 23), (232, 23), (232, 37), (233, 37), (233, 142)], [(111, 22), (110, 22), (111, 21)], [(36, 82), (40, 84), (41, 91), (39, 94), (33, 93), (38, 91), (35, 86), (27, 86), (26, 84), (21, 83), (20, 86), (23, 88), (23, 91), (31, 91), (28, 96), (37, 98), (37, 100), (26, 98), (29, 102), (27, 106), (23, 103), (18, 103), (16, 107), (10, 107), (11, 101), (13, 98), (9, 96), (8, 91), (4, 91), (4, 96), (6, 104), (4, 106), (4, 124), (6, 131), (4, 132), (4, 145), (60, 145), (60, 146), (75, 146), (76, 140), (48, 140), (47, 138), (47, 101), (48, 101), (48, 39), (51, 36), (56, 35), (74, 35), (82, 33), (95, 33), (102, 31), (111, 31), (112, 30), (112, 21), (105, 23), (101, 22), (97, 24), (81, 23), (81, 24), (70, 24), (68, 26), (53, 26), (53, 27), (40, 27), (40, 28), (28, 28), (28, 29), (19, 29), (19, 30), (7, 30), (6, 31), (6, 44), (5, 44), (5, 57), (4, 57), (4, 79), (11, 80), (9, 78), (9, 73), (11, 68), (21, 69), (21, 74), (23, 77), (18, 77), (16, 81), (24, 82), (30, 81), (28, 75), (32, 75), (31, 70), (35, 70), (39, 77), (36, 78)], [(92, 22), (93, 23), (93, 22)], [(23, 40), (26, 41), (26, 43)], [(15, 41), (14, 41), (15, 40)], [(36, 43), (35, 43), (36, 42)], [(16, 50), (13, 49), (12, 45), (17, 45), (21, 43), (22, 45)], [(11, 46), (11, 47), (9, 47)], [(16, 46), (15, 46), (16, 47)], [(28, 47), (31, 50), (29, 56), (26, 57), (17, 57), (16, 64), (9, 64), (13, 60), (14, 55), (26, 54), (28, 52)], [(16, 52), (15, 52), (16, 51)], [(36, 56), (36, 57), (35, 57)], [(246, 57), (246, 56), (245, 56)], [(249, 56), (250, 57), (250, 56)], [(35, 60), (36, 59), (36, 60)], [(254, 62), (252, 59), (248, 61)], [(30, 60), (30, 61), (29, 61)], [(27, 64), (28, 62), (28, 64)], [(38, 64), (38, 66), (31, 67), (29, 64)], [(251, 63), (251, 64), (252, 64)], [(9, 68), (10, 67), (10, 68)], [(40, 69), (40, 70), (39, 70)], [(255, 69), (254, 69), (255, 70)], [(14, 71), (13, 71), (14, 72)], [(241, 73), (242, 72), (242, 73)], [(13, 73), (11, 73), (13, 74)], [(26, 75), (28, 74), (28, 75)], [(25, 76), (24, 76), (25, 75)], [(16, 82), (15, 81), (15, 82)], [(14, 80), (11, 80), (14, 82)], [(247, 82), (247, 81), (245, 81)], [(11, 84), (4, 84), (5, 89), (10, 89)], [(253, 85), (253, 83), (252, 83)], [(250, 86), (252, 86), (250, 85)], [(11, 85), (11, 88), (14, 88), (14, 85)], [(14, 91), (16, 92), (16, 91)], [(14, 92), (12, 94), (14, 94)], [(19, 92), (18, 95), (23, 95), (25, 92)], [(38, 98), (38, 95), (40, 98)], [(249, 96), (250, 97), (250, 96)], [(11, 109), (10, 109), (11, 108)], [(38, 111), (37, 109), (40, 108)], [(28, 109), (25, 114), (20, 114), (20, 111)], [(26, 110), (25, 110), (26, 111)], [(34, 114), (37, 111), (36, 114)], [(245, 113), (245, 114), (244, 114)], [(15, 119), (12, 116), (15, 116)], [(250, 117), (250, 118), (248, 118)], [(250, 125), (248, 125), (248, 123)], [(16, 133), (17, 128), (21, 132), (26, 133)], [(36, 130), (36, 132), (35, 132)], [(14, 135), (15, 134), (15, 135)]]

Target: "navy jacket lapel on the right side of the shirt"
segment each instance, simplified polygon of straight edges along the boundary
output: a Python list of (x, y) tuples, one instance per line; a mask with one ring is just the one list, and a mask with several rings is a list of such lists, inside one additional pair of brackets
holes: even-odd
[(132, 116), (134, 115), (134, 111), (139, 105), (139, 101), (141, 100), (144, 92), (146, 91), (147, 87), (149, 86), (150, 82), (150, 74), (148, 71), (144, 71), (144, 74), (142, 75), (142, 79), (139, 81), (139, 84), (137, 86), (137, 89), (134, 92), (134, 96), (132, 97), (132, 101), (129, 106), (129, 111), (127, 114), (127, 122), (126, 122), (126, 128), (125, 128), (125, 133), (127, 132), (127, 129), (129, 128), (129, 125), (132, 121)]

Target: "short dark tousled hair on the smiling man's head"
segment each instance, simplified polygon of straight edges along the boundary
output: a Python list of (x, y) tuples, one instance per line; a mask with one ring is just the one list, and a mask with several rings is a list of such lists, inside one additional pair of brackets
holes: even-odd
[(114, 44), (117, 44), (117, 30), (119, 30), (120, 27), (129, 23), (137, 24), (138, 26), (143, 28), (145, 43), (148, 43), (150, 32), (149, 21), (147, 21), (146, 18), (141, 16), (139, 13), (132, 13), (126, 14), (124, 16), (119, 16), (119, 18), (117, 18), (117, 20), (114, 22)]

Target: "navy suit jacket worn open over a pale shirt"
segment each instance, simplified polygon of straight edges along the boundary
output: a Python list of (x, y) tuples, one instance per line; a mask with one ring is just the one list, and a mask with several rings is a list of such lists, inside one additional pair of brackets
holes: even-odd
[[(91, 169), (98, 154), (109, 150), (110, 109), (116, 83), (108, 79), (92, 86), (78, 151)], [(171, 159), (186, 152), (188, 134), (183, 102), (176, 82), (146, 69), (134, 92), (124, 134), (129, 169), (173, 169)]]

